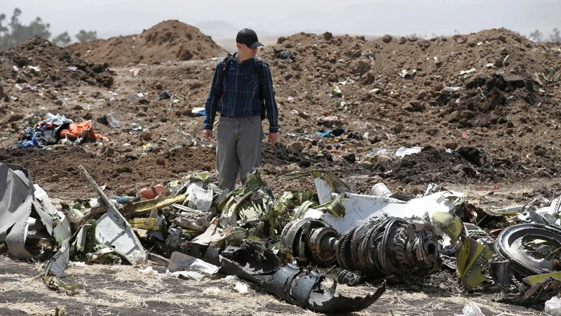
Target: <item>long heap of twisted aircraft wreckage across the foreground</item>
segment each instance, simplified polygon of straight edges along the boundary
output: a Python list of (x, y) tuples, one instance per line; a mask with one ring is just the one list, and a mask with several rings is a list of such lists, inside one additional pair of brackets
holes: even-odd
[[(99, 199), (59, 210), (22, 166), (0, 163), (0, 242), (15, 258), (50, 256), (42, 271), (50, 289), (79, 287), (60, 279), (72, 260), (152, 261), (196, 280), (219, 271), (313, 312), (364, 310), (386, 282), (419, 282), (441, 269), (456, 270), (467, 289), (501, 289), (516, 304), (561, 290), (561, 198), (480, 209), (438, 185), (408, 195), (383, 183), (360, 195), (316, 166), (285, 175), (313, 177), (315, 193), (275, 195), (256, 169), (231, 192), (203, 172), (118, 197), (79, 169)], [(338, 284), (373, 288), (342, 296)]]

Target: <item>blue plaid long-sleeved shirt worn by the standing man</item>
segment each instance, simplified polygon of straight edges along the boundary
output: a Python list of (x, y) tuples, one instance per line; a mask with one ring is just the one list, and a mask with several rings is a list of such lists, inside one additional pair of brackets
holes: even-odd
[[(231, 117), (252, 117), (261, 115), (261, 101), (259, 100), (259, 78), (255, 73), (253, 58), (238, 63), (231, 58), (226, 82), (222, 80), (222, 60), (216, 66), (212, 78), (212, 86), (205, 104), (205, 120), (203, 129), (212, 130), (216, 112)], [(269, 133), (278, 133), (278, 109), (273, 91), (273, 79), (269, 64), (263, 62), (263, 93), (267, 118), (269, 119)]]

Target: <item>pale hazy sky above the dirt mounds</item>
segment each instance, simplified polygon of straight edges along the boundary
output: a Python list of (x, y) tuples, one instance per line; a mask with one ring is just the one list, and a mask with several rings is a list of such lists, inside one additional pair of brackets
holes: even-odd
[[(191, 25), (226, 21), (234, 29), (250, 27), (271, 35), (330, 31), (430, 36), (494, 27), (549, 34), (561, 28), (560, 0), (0, 0), (0, 13), (8, 20), (16, 7), (25, 23), (37, 16), (49, 22), (53, 36), (91, 29), (102, 38), (137, 34), (163, 20)], [(224, 37), (220, 29), (208, 32)]]

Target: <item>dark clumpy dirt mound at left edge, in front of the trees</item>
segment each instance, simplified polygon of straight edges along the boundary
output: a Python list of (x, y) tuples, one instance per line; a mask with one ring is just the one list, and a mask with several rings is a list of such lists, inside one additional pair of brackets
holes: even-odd
[(0, 50), (0, 78), (13, 79), (15, 84), (60, 88), (83, 82), (110, 87), (113, 74), (108, 67), (69, 55), (63, 48), (39, 36)]

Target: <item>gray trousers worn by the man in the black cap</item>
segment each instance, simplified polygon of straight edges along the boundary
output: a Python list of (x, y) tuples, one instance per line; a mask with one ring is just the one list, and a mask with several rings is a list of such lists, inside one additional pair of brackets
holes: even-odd
[(243, 184), (248, 179), (248, 173), (259, 167), (263, 138), (263, 126), (259, 116), (220, 117), (216, 146), (220, 189), (234, 190), (238, 172)]

